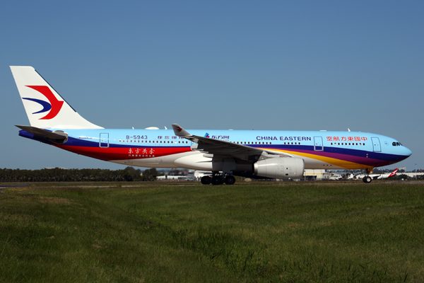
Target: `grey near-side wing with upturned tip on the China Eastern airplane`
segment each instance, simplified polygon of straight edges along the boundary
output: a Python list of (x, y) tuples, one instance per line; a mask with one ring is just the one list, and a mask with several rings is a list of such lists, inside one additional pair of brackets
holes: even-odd
[(192, 149), (213, 155), (209, 157), (235, 157), (249, 161), (259, 160), (260, 156), (262, 156), (262, 158), (272, 158), (279, 155), (293, 157), (290, 154), (270, 151), (268, 149), (259, 149), (244, 144), (235, 144), (230, 141), (221, 141), (219, 139), (195, 136), (187, 132), (178, 124), (172, 124), (172, 129), (174, 129), (174, 132), (178, 137), (184, 137), (184, 139), (188, 139), (189, 141), (196, 143), (192, 146)]

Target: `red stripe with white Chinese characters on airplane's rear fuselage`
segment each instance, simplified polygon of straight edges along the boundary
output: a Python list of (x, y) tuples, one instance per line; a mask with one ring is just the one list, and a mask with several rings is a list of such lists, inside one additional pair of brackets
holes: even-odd
[(71, 151), (75, 154), (81, 154), (97, 158), (104, 161), (141, 159), (168, 156), (171, 154), (181, 154), (192, 151), (190, 147), (146, 147), (146, 148), (125, 148), (125, 147), (90, 147), (90, 146), (63, 146), (54, 145), (60, 149)]

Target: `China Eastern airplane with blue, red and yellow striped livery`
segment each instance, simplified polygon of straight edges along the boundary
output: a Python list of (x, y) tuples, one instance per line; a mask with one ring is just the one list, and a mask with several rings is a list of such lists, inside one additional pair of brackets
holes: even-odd
[(74, 110), (33, 67), (11, 67), (30, 126), (19, 135), (103, 161), (147, 168), (212, 172), (208, 185), (249, 178), (302, 178), (305, 169), (364, 169), (388, 166), (411, 156), (399, 141), (366, 132), (105, 129)]

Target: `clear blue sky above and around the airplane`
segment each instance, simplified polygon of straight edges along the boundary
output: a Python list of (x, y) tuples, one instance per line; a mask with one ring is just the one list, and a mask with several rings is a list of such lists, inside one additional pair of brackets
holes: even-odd
[(124, 168), (18, 137), (9, 65), (107, 128), (374, 132), (424, 168), (423, 1), (6, 1), (0, 168)]

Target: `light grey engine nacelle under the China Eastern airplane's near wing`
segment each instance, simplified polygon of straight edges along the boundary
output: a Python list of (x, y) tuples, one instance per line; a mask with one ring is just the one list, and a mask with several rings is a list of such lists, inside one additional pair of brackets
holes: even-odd
[(302, 158), (276, 157), (254, 163), (254, 175), (273, 179), (299, 179), (305, 171)]

